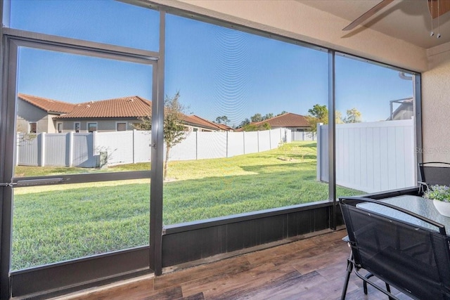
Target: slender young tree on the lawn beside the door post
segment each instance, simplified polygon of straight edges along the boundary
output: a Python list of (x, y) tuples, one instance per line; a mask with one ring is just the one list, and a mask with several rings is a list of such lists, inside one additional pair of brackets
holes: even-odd
[[(186, 107), (179, 101), (180, 92), (177, 91), (173, 97), (166, 96), (164, 100), (164, 141), (166, 144), (166, 159), (164, 164), (164, 180), (167, 178), (167, 169), (169, 162), (169, 153), (174, 145), (181, 143), (186, 138), (184, 131), (183, 116)], [(152, 129), (151, 113), (145, 117), (139, 118), (141, 123), (135, 124), (134, 128), (138, 130)]]

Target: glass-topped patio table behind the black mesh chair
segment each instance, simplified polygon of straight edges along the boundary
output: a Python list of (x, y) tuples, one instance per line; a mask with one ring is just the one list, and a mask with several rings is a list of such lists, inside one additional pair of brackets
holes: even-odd
[[(412, 211), (415, 214), (425, 216), (425, 218), (427, 219), (440, 223), (445, 226), (446, 234), (450, 236), (450, 217), (442, 216), (442, 214), (439, 214), (439, 212), (435, 208), (435, 205), (433, 204), (433, 200), (413, 195), (402, 195), (380, 199), (380, 201), (395, 205), (396, 207), (401, 207), (402, 209), (406, 209), (408, 211)], [(377, 212), (379, 214), (385, 214), (386, 216), (390, 216), (391, 218), (400, 221), (406, 221), (408, 223), (413, 223), (424, 228), (430, 228), (432, 230), (438, 231), (437, 227), (432, 226), (429, 223), (425, 223), (414, 218), (413, 216), (403, 214), (401, 213), (401, 211), (396, 211), (394, 209), (390, 209), (389, 207), (383, 207), (382, 205), (378, 205), (376, 203), (361, 203), (357, 204), (357, 206), (361, 209)]]

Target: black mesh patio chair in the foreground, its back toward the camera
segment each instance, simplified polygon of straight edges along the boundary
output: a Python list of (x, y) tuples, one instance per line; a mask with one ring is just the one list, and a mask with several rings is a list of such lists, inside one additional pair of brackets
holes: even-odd
[[(413, 299), (450, 299), (450, 249), (444, 226), (378, 200), (343, 197), (340, 207), (352, 249), (341, 299), (352, 270), (390, 299), (398, 298), (389, 286)], [(366, 278), (361, 269), (368, 271), (368, 277), (383, 280), (387, 288)]]

